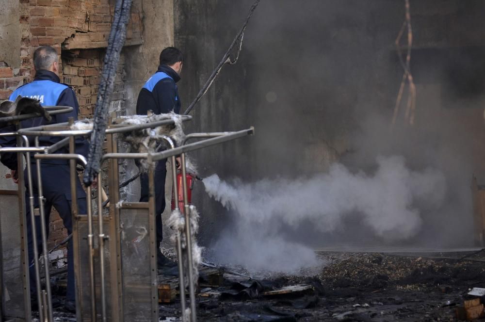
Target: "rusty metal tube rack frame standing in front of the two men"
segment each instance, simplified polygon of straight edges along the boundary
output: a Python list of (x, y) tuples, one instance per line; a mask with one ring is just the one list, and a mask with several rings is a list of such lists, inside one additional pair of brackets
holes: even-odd
[[(188, 121), (192, 119), (192, 117), (183, 115), (182, 120)], [(92, 199), (91, 199), (91, 188), (88, 187), (87, 189), (87, 214), (79, 214), (77, 213), (78, 205), (77, 205), (77, 194), (76, 194), (76, 180), (79, 180), (77, 177), (77, 170), (76, 170), (76, 162), (79, 162), (83, 165), (86, 164), (86, 160), (81, 155), (77, 155), (74, 153), (75, 147), (75, 137), (76, 136), (87, 136), (90, 135), (92, 130), (71, 130), (70, 125), (72, 122), (62, 123), (62, 124), (53, 124), (53, 125), (46, 125), (41, 127), (35, 127), (30, 129), (20, 129), (18, 130), (18, 134), (22, 135), (23, 137), (34, 137), (36, 146), (33, 148), (23, 147), (25, 152), (32, 152), (35, 153), (34, 159), (37, 163), (37, 179), (41, 182), (41, 171), (40, 171), (40, 161), (44, 159), (65, 159), (70, 161), (70, 179), (71, 179), (71, 195), (72, 198), (72, 215), (73, 215), (73, 238), (74, 238), (74, 261), (75, 261), (75, 275), (76, 275), (76, 304), (77, 304), (77, 318), (78, 321), (97, 321), (98, 317), (100, 321), (138, 321), (138, 320), (129, 320), (125, 318), (123, 309), (123, 298), (124, 293), (126, 292), (126, 288), (123, 286), (124, 278), (123, 278), (123, 263), (122, 263), (122, 252), (121, 252), (121, 225), (120, 225), (120, 216), (123, 210), (129, 209), (142, 209), (143, 211), (147, 212), (148, 220), (149, 220), (149, 267), (150, 267), (150, 285), (147, 286), (150, 289), (151, 295), (151, 312), (150, 312), (150, 320), (151, 321), (158, 321), (158, 281), (157, 281), (157, 254), (158, 254), (158, 247), (156, 247), (156, 233), (155, 233), (155, 198), (154, 198), (154, 162), (160, 161), (163, 159), (171, 158), (173, 164), (175, 164), (176, 156), (180, 155), (182, 159), (182, 175), (185, 176), (186, 174), (186, 164), (185, 164), (185, 153), (194, 151), (197, 149), (201, 149), (204, 147), (208, 147), (211, 145), (220, 144), (223, 142), (235, 140), (237, 138), (241, 138), (243, 136), (247, 136), (254, 133), (254, 129), (245, 129), (242, 131), (237, 132), (216, 132), (216, 133), (193, 133), (187, 135), (186, 139), (183, 142), (183, 145), (176, 147), (174, 142), (171, 138), (164, 136), (162, 139), (167, 142), (167, 144), (171, 147), (166, 149), (162, 152), (157, 153), (119, 153), (117, 151), (117, 140), (116, 134), (125, 133), (133, 130), (140, 130), (140, 129), (147, 129), (147, 128), (155, 128), (161, 125), (167, 124), (174, 124), (174, 120), (166, 119), (154, 122), (148, 122), (145, 124), (137, 124), (137, 125), (123, 125), (117, 124), (120, 119), (110, 119), (110, 126), (106, 130), (106, 137), (107, 137), (107, 149), (108, 152), (102, 157), (101, 165), (104, 162), (108, 162), (108, 177), (109, 177), (109, 194), (110, 194), (110, 208), (109, 208), (109, 215), (103, 215), (103, 208), (101, 203), (101, 189), (102, 187), (102, 176), (101, 173), (98, 174), (98, 213), (97, 216), (94, 216), (92, 212)], [(55, 145), (51, 147), (39, 147), (38, 146), (38, 138), (40, 136), (59, 136), (65, 137), (63, 140), (59, 141)], [(205, 139), (196, 143), (186, 144), (189, 139)], [(24, 139), (28, 144), (28, 140)], [(55, 149), (60, 148), (61, 146), (69, 145), (69, 154), (53, 154), (52, 152)], [(27, 149), (27, 150), (26, 150)], [(0, 151), (2, 151), (0, 149)], [(18, 151), (18, 150), (17, 150)], [(148, 178), (149, 178), (149, 200), (148, 202), (126, 202), (123, 200), (119, 200), (119, 173), (118, 173), (118, 161), (122, 159), (145, 159), (148, 161)], [(174, 189), (177, 189), (177, 179), (176, 179), (176, 169), (175, 167), (172, 168), (173, 171), (173, 179), (174, 179)], [(32, 172), (29, 170), (28, 166), (28, 176), (29, 180), (32, 180)], [(32, 187), (32, 185), (30, 185)], [(184, 283), (184, 267), (183, 263), (183, 256), (187, 256), (188, 265), (188, 277), (189, 277), (189, 296), (190, 296), (190, 307), (191, 307), (191, 316), (190, 321), (196, 321), (196, 306), (195, 306), (195, 283), (196, 281), (193, 280), (193, 258), (192, 258), (192, 241), (191, 241), (191, 227), (190, 227), (190, 207), (187, 201), (187, 184), (186, 181), (183, 180), (182, 189), (184, 191), (184, 217), (185, 217), (185, 229), (184, 231), (180, 231), (179, 234), (185, 234), (185, 238), (187, 241), (187, 249), (185, 252), (182, 252), (182, 246), (180, 242), (180, 235), (177, 239), (177, 255), (178, 255), (178, 266), (179, 266), (179, 278), (180, 278), (180, 303), (182, 308), (182, 319), (185, 321), (185, 283)], [(175, 192), (175, 198), (178, 198), (178, 193)], [(42, 187), (39, 185), (39, 204), (40, 204), (40, 215), (41, 218), (45, 218), (42, 207)], [(33, 207), (33, 201), (32, 207)], [(178, 200), (175, 202), (176, 207), (178, 207)], [(31, 208), (32, 208), (31, 207)], [(95, 229), (94, 223), (97, 220), (97, 240), (95, 236)], [(43, 221), (44, 222), (44, 221)], [(87, 234), (86, 236), (82, 236), (81, 234), (81, 225), (85, 225), (83, 223), (87, 223)], [(189, 225), (188, 225), (189, 223)], [(105, 227), (104, 225), (108, 225), (108, 233), (109, 235), (105, 234)], [(44, 235), (42, 236), (44, 240)], [(89, 278), (85, 281), (85, 276), (83, 272), (81, 272), (81, 242), (83, 237), (86, 237), (86, 243), (89, 253)], [(95, 242), (97, 241), (98, 247), (95, 247)], [(108, 241), (108, 248), (106, 247), (106, 242)], [(44, 242), (44, 246), (46, 242)], [(107, 251), (106, 251), (107, 250)], [(110, 297), (107, 298), (107, 290), (106, 290), (106, 263), (105, 263), (105, 251), (109, 252), (109, 290), (110, 290)], [(44, 251), (47, 254), (46, 251)], [(95, 260), (99, 261), (99, 274), (96, 274), (95, 268)], [(99, 275), (99, 276), (98, 276)], [(49, 272), (46, 271), (46, 279), (48, 279)], [(99, 277), (99, 287), (97, 286), (97, 277)], [(90, 303), (84, 303), (82, 301), (82, 292), (81, 288), (85, 286), (83, 282), (87, 282), (89, 284), (89, 296), (90, 296)], [(47, 284), (46, 289), (41, 297), (39, 294), (39, 298), (44, 303), (44, 307), (47, 308), (46, 310), (46, 317), (47, 321), (51, 321), (52, 319), (52, 310), (51, 310), (51, 303), (50, 303), (50, 286)], [(38, 289), (39, 290), (39, 289)], [(40, 292), (39, 292), (40, 293)], [(47, 297), (47, 298), (46, 298)], [(98, 299), (98, 301), (97, 301)], [(45, 301), (44, 301), (45, 300)], [(108, 301), (108, 302), (107, 302)], [(110, 304), (111, 310), (109, 310), (108, 304)], [(100, 314), (98, 314), (100, 311)], [(49, 314), (50, 312), (50, 314)], [(145, 320), (146, 321), (146, 320)]]

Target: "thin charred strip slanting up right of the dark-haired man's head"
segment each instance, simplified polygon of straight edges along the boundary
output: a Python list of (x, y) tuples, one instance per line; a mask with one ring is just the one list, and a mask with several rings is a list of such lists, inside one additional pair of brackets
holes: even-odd
[[(190, 111), (192, 111), (192, 109), (194, 108), (194, 105), (197, 104), (197, 102), (207, 93), (210, 86), (215, 81), (216, 77), (219, 75), (219, 72), (221, 71), (222, 67), (225, 64), (233, 65), (237, 63), (239, 59), (239, 53), (241, 52), (241, 49), (242, 49), (242, 39), (244, 38), (244, 32), (246, 31), (246, 27), (249, 22), (249, 19), (253, 15), (253, 12), (256, 10), (256, 7), (258, 7), (259, 1), (260, 0), (256, 0), (256, 2), (254, 2), (253, 5), (251, 6), (251, 9), (249, 9), (249, 14), (246, 18), (246, 21), (244, 21), (244, 24), (242, 25), (241, 31), (238, 32), (238, 34), (236, 35), (236, 38), (234, 38), (234, 40), (232, 41), (231, 46), (229, 46), (229, 49), (227, 49), (226, 53), (222, 57), (221, 62), (217, 65), (217, 67), (215, 67), (212, 74), (210, 74), (209, 79), (206, 81), (206, 83), (204, 84), (204, 87), (202, 87), (199, 94), (197, 94), (197, 97), (195, 97), (192, 103), (190, 103), (187, 110), (185, 110), (184, 112), (185, 115), (190, 113)], [(234, 48), (236, 48), (235, 57), (231, 58), (231, 54)]]

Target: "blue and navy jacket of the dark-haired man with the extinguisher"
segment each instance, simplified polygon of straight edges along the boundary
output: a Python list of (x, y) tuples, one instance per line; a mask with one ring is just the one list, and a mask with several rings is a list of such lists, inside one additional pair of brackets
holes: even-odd
[(180, 113), (180, 97), (176, 83), (180, 81), (177, 72), (167, 65), (160, 65), (157, 72), (146, 81), (136, 101), (136, 113), (146, 115)]

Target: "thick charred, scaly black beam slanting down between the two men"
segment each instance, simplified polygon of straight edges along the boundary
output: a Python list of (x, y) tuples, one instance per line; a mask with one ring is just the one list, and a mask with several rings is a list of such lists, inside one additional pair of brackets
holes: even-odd
[(91, 134), (91, 145), (89, 146), (88, 163), (84, 171), (84, 184), (90, 186), (93, 178), (99, 172), (99, 164), (103, 153), (104, 134), (107, 127), (108, 107), (113, 83), (116, 74), (116, 67), (120, 58), (121, 49), (125, 44), (126, 25), (130, 16), (132, 0), (117, 0), (114, 7), (114, 18), (108, 38), (108, 48), (104, 57), (101, 82), (97, 93), (96, 110), (94, 114), (94, 130)]

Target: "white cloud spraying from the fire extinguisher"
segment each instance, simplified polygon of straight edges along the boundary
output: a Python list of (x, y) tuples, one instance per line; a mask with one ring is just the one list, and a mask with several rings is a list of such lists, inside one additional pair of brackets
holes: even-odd
[(385, 240), (412, 238), (420, 231), (421, 211), (442, 205), (445, 177), (431, 168), (411, 171), (403, 157), (376, 161), (372, 174), (352, 173), (336, 163), (328, 173), (297, 180), (205, 178), (207, 193), (238, 215), (235, 232), (223, 235), (215, 248), (224, 260), (248, 269), (294, 272), (316, 264), (316, 258), (307, 246), (286, 241), (278, 233), (282, 225), (296, 231), (309, 221), (325, 233), (342, 228), (345, 216), (360, 216)]

